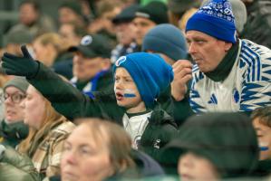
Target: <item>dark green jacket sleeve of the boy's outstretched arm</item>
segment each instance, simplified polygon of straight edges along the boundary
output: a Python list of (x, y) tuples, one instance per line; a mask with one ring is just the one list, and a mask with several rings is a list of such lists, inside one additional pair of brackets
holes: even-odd
[(39, 63), (37, 75), (28, 81), (52, 103), (55, 110), (70, 120), (101, 115), (98, 101), (82, 94), (70, 82), (63, 81), (55, 72)]

